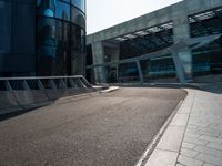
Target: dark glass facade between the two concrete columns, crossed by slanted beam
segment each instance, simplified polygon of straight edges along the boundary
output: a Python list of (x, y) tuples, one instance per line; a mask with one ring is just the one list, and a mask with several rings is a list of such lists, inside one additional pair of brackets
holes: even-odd
[[(158, 28), (153, 28), (155, 30)], [(159, 32), (148, 32), (145, 35), (120, 42), (120, 59), (129, 59), (144, 55), (165, 49), (173, 44), (173, 29), (163, 29)], [(149, 59), (140, 62), (143, 79), (175, 77), (175, 68), (171, 55), (158, 59)], [(135, 63), (120, 64), (119, 77), (121, 81), (139, 81), (139, 73)]]

